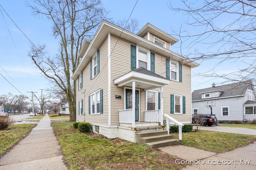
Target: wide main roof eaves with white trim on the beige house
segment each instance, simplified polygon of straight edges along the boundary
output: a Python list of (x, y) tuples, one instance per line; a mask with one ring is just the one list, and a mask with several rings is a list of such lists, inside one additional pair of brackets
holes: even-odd
[[(82, 57), (78, 67), (74, 71), (74, 74), (72, 75), (72, 79), (76, 80), (78, 76), (81, 74), (82, 70), (84, 70), (85, 66), (90, 62), (92, 59), (92, 56), (95, 55), (97, 49), (99, 49), (100, 45), (108, 37), (108, 34), (116, 35), (122, 39), (126, 39), (132, 43), (135, 43), (137, 45), (140, 45), (144, 48), (150, 49), (156, 53), (162, 54), (166, 57), (172, 57), (172, 59), (177, 61), (182, 61), (184, 64), (187, 64), (191, 66), (192, 68), (199, 66), (198, 63), (191, 61), (187, 58), (182, 57), (181, 55), (178, 55), (177, 53), (174, 53), (173, 51), (170, 51), (168, 49), (165, 49), (163, 47), (160, 47), (159, 45), (148, 41), (144, 39), (143, 37), (140, 37), (130, 31), (127, 31), (126, 29), (123, 29), (121, 27), (118, 27), (117, 25), (114, 25), (113, 23), (110, 23), (108, 21), (103, 20), (100, 24), (98, 30), (94, 34), (94, 37), (92, 38), (92, 41), (86, 41), (86, 45), (83, 45), (83, 48), (86, 48), (84, 50), (81, 49), (81, 52), (79, 52), (79, 57)], [(87, 46), (88, 45), (88, 46)]]

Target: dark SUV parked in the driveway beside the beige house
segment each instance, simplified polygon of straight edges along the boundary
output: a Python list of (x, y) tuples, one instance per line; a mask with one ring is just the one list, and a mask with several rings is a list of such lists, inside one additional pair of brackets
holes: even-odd
[[(196, 120), (198, 119), (198, 121)], [(215, 115), (211, 114), (195, 114), (192, 115), (192, 123), (193, 124), (198, 124), (200, 123), (202, 126), (212, 126), (212, 125), (217, 125), (218, 119)]]

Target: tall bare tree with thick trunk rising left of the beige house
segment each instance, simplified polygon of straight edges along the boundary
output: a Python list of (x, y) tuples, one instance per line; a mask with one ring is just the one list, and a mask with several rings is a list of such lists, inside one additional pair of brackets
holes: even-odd
[(85, 39), (91, 39), (108, 12), (100, 0), (33, 0), (28, 6), (34, 14), (52, 21), (60, 47), (56, 56), (50, 56), (45, 45), (32, 45), (29, 56), (55, 86), (54, 91), (66, 94), (70, 121), (76, 121), (76, 80), (72, 81), (71, 76), (79, 64), (78, 53)]

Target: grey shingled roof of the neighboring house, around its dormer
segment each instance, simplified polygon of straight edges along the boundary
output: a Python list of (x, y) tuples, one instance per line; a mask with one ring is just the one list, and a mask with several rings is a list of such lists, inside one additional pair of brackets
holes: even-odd
[[(229, 97), (237, 97), (237, 96), (244, 96), (247, 88), (252, 84), (252, 80), (244, 81), (244, 82), (238, 82), (238, 83), (232, 83), (232, 84), (226, 84), (222, 86), (216, 86), (211, 88), (204, 88), (200, 90), (194, 90), (192, 92), (192, 102), (193, 101), (200, 101), (200, 100), (211, 100), (211, 99), (217, 99), (217, 98), (229, 98)], [(202, 94), (204, 93), (210, 93), (220, 91), (221, 94), (218, 97), (214, 98), (206, 98), (202, 99)]]

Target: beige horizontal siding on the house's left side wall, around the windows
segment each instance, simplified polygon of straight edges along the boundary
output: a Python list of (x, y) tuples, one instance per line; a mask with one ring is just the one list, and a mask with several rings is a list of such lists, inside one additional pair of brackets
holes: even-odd
[[(90, 80), (90, 62), (83, 70), (83, 88), (76, 96), (76, 120), (94, 125), (108, 125), (108, 39), (100, 46), (100, 72)], [(95, 51), (96, 54), (96, 51)], [(92, 56), (94, 57), (94, 55)], [(97, 90), (103, 89), (103, 114), (89, 115), (88, 97)], [(85, 90), (85, 93), (83, 94)], [(78, 102), (83, 99), (85, 115), (78, 115)]]

